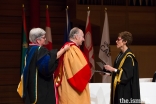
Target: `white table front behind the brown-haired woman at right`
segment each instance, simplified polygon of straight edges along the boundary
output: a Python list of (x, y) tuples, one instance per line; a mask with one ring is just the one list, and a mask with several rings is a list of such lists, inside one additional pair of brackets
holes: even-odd
[[(110, 104), (110, 83), (90, 83), (91, 104)], [(142, 104), (156, 104), (156, 82), (151, 78), (140, 79)]]

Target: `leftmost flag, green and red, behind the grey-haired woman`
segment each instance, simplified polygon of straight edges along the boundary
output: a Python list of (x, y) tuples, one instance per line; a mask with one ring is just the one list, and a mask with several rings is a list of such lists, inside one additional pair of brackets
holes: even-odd
[(21, 51), (21, 74), (23, 72), (23, 68), (25, 66), (25, 53), (26, 50), (28, 48), (28, 35), (27, 35), (27, 31), (26, 31), (26, 17), (25, 17), (25, 8), (24, 5), (22, 6), (22, 51)]

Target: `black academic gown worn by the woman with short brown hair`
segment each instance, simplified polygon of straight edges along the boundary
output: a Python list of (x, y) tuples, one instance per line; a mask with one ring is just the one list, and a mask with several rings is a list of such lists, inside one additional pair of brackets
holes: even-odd
[[(127, 49), (125, 53), (120, 52), (120, 57), (117, 57), (114, 62), (114, 68), (118, 69), (121, 60), (126, 55), (126, 53), (131, 52)], [(138, 74), (138, 63), (133, 55), (131, 57), (126, 57), (122, 69), (120, 82), (117, 83), (115, 91), (114, 79), (116, 74), (120, 73), (120, 70), (112, 73), (111, 82), (111, 104), (124, 104), (128, 102), (133, 102), (133, 104), (140, 104), (140, 85), (139, 85), (139, 74)], [(134, 62), (134, 66), (133, 66)], [(114, 96), (113, 96), (114, 95)]]

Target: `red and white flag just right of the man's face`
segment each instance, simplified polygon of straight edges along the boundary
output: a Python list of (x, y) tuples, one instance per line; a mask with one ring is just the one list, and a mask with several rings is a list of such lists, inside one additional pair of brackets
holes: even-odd
[(95, 62), (94, 62), (94, 49), (93, 49), (93, 43), (92, 43), (91, 24), (90, 24), (90, 11), (87, 12), (84, 54), (89, 62), (92, 75), (93, 75), (93, 72), (95, 70)]

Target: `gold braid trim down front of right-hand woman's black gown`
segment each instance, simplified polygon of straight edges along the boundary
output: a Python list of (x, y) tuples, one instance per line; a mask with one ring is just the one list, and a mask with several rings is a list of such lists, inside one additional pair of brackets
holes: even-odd
[[(116, 85), (117, 85), (118, 83), (120, 83), (120, 81), (121, 81), (120, 79), (121, 79), (121, 75), (122, 75), (122, 72), (123, 72), (123, 69), (122, 69), (121, 67), (122, 67), (123, 63), (125, 62), (126, 57), (127, 57), (127, 56), (129, 57), (130, 54), (134, 56), (134, 54), (132, 54), (131, 52), (128, 52), (128, 53), (123, 57), (123, 59), (121, 60), (120, 65), (119, 65), (119, 67), (118, 67), (118, 70), (120, 70), (120, 73), (119, 73), (119, 74), (116, 73), (116, 76), (115, 76), (115, 79), (114, 79), (113, 99), (114, 99), (114, 95), (115, 95), (114, 93), (115, 93)], [(132, 56), (130, 56), (130, 57), (132, 58)], [(133, 58), (132, 58), (132, 61), (133, 61)], [(133, 61), (133, 66), (134, 66), (134, 61)]]

